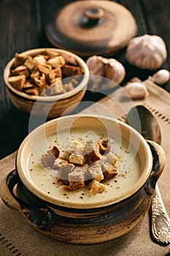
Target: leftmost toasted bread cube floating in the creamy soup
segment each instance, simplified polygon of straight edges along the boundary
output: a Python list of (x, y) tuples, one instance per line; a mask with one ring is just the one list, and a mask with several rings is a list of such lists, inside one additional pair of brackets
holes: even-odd
[(52, 167), (55, 159), (59, 157), (60, 150), (53, 146), (52, 149), (48, 150), (46, 154), (42, 154), (42, 162), (45, 167)]

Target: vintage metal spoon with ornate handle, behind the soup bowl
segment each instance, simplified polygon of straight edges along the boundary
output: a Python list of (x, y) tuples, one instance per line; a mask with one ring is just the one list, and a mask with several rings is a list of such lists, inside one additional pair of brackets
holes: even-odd
[[(150, 110), (144, 106), (138, 105), (131, 108), (126, 122), (140, 132), (146, 140), (161, 144), (161, 130), (158, 122)], [(152, 237), (160, 244), (166, 245), (170, 243), (170, 219), (163, 205), (158, 184), (156, 184), (152, 198), (151, 233)]]

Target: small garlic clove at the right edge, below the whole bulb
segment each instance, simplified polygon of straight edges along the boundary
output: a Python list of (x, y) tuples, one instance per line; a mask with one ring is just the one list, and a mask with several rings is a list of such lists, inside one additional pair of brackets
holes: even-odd
[(157, 83), (159, 86), (162, 86), (164, 83), (167, 83), (170, 79), (170, 72), (166, 69), (160, 69), (151, 77), (154, 83)]

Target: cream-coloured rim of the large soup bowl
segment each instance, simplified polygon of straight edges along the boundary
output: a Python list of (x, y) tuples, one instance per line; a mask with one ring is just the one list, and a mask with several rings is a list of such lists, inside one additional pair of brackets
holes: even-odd
[[(63, 207), (69, 207), (69, 208), (83, 208), (83, 209), (88, 209), (88, 208), (100, 208), (104, 206), (110, 206), (116, 203), (120, 203), (123, 200), (127, 200), (129, 197), (134, 195), (136, 192), (141, 189), (147, 179), (150, 177), (150, 173), (152, 170), (152, 152), (150, 150), (150, 146), (148, 145), (147, 141), (142, 137), (142, 135), (139, 134), (139, 132), (136, 131), (136, 129), (130, 127), (128, 124), (123, 123), (122, 121), (117, 120), (116, 118), (109, 118), (106, 116), (100, 116), (100, 115), (87, 115), (87, 114), (77, 114), (77, 115), (71, 115), (71, 116), (63, 116), (61, 117), (63, 121), (66, 121), (67, 118), (100, 118), (100, 120), (107, 120), (107, 121), (113, 121), (116, 124), (119, 124), (121, 127), (124, 127), (123, 129), (127, 129), (128, 131), (132, 132), (136, 136), (136, 138), (139, 138), (139, 143), (142, 147), (144, 148), (144, 154), (147, 156), (145, 165), (144, 165), (144, 170), (142, 171), (141, 176), (139, 179), (135, 182), (134, 186), (131, 187), (131, 189), (126, 190), (123, 192), (121, 196), (117, 196), (116, 198), (109, 198), (105, 200), (98, 201), (97, 203), (88, 202), (88, 203), (81, 203), (81, 202), (69, 202), (69, 201), (63, 201), (59, 197), (53, 197), (52, 195), (49, 195), (45, 192), (43, 192), (41, 189), (36, 187), (31, 181), (28, 179), (28, 176), (26, 175), (26, 172), (23, 170), (23, 164), (22, 164), (22, 159), (23, 159), (23, 154), (24, 151), (26, 150), (26, 147), (28, 146), (29, 143), (29, 135), (23, 140), (23, 143), (21, 143), (20, 148), (18, 149), (18, 155), (16, 158), (16, 169), (18, 170), (18, 175), (20, 176), (21, 181), (23, 184), (27, 187), (27, 189), (32, 192), (36, 197), (39, 197), (41, 200), (46, 201), (47, 203), (51, 203), (55, 206), (63, 206)], [(32, 132), (37, 132), (39, 129), (42, 129), (42, 127), (45, 126), (45, 129), (49, 129), (49, 127), (53, 126), (55, 123), (58, 123), (61, 118), (55, 118), (51, 121), (47, 121), (45, 124), (40, 125), (39, 127), (36, 127)], [(32, 133), (31, 132), (31, 133)]]

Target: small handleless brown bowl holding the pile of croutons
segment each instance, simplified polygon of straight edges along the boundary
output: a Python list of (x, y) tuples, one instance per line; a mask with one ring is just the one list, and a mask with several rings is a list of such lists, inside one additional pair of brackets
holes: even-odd
[[(36, 54), (42, 53), (46, 48), (38, 48), (27, 50), (21, 53), (24, 56), (34, 56)], [(59, 94), (55, 96), (33, 96), (26, 94), (22, 91), (15, 89), (8, 82), (10, 69), (14, 63), (14, 58), (9, 61), (7, 66), (4, 68), (4, 82), (7, 88), (7, 94), (11, 99), (13, 105), (19, 110), (22, 110), (26, 115), (33, 114), (35, 116), (47, 116), (47, 118), (56, 118), (61, 116), (63, 113), (70, 113), (77, 104), (82, 100), (85, 94), (85, 90), (88, 85), (89, 79), (89, 69), (85, 61), (83, 61), (79, 56), (71, 53), (67, 50), (48, 48), (53, 52), (66, 53), (69, 56), (73, 56), (77, 64), (84, 69), (84, 75), (82, 75), (82, 80), (76, 88), (72, 91), (68, 91), (64, 94)]]

